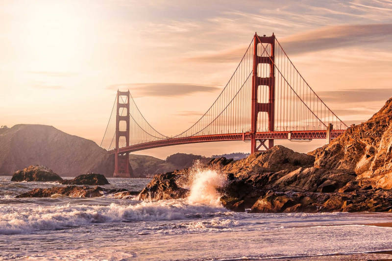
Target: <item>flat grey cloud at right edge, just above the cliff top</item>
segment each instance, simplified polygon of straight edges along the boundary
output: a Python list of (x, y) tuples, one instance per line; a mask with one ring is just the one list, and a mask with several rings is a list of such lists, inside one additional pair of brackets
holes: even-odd
[(392, 96), (392, 89), (368, 88), (317, 92), (324, 102), (354, 103), (386, 101)]

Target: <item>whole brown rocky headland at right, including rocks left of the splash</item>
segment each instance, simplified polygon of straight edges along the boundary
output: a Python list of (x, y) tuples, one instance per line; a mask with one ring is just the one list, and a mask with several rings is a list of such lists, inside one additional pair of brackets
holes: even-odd
[[(213, 159), (207, 167), (228, 175), (217, 190), (234, 211), (392, 211), (392, 98), (367, 122), (308, 154), (274, 146), (238, 161)], [(178, 181), (187, 173), (157, 175), (141, 199), (186, 197)]]

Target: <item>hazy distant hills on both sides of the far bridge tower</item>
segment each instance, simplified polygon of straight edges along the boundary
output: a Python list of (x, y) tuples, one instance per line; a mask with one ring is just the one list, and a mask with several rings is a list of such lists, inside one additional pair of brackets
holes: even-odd
[[(97, 143), (67, 134), (53, 126), (17, 124), (0, 128), (0, 175), (10, 175), (30, 165), (44, 165), (60, 176), (77, 176), (87, 172), (111, 177), (113, 155)], [(132, 177), (151, 176), (192, 166), (200, 155), (176, 153), (157, 159), (146, 155), (129, 155)]]

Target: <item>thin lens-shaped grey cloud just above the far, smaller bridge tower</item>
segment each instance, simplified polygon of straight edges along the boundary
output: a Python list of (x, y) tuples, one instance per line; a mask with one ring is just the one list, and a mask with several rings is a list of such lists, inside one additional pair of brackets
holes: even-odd
[(189, 83), (126, 83), (113, 84), (107, 87), (110, 90), (129, 89), (134, 97), (140, 96), (161, 96), (174, 97), (191, 95), (194, 93), (212, 93), (221, 87), (196, 85)]

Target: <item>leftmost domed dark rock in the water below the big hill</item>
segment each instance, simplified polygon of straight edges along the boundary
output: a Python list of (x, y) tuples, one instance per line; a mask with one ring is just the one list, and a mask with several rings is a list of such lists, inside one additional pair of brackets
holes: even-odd
[(11, 181), (59, 181), (63, 179), (50, 168), (40, 165), (28, 166), (14, 173)]

